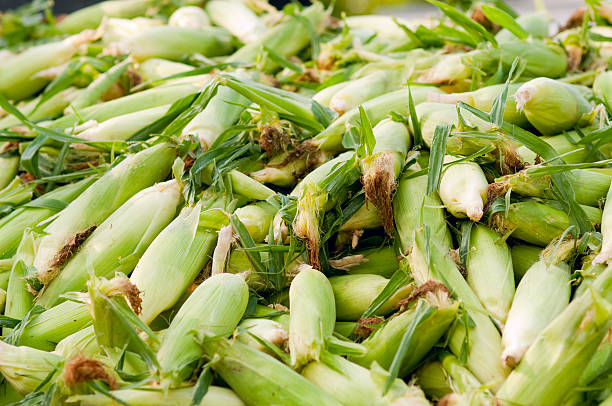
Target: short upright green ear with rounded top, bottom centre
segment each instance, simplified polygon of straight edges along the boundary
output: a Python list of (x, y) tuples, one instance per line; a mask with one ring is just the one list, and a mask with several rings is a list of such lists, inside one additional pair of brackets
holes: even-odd
[(321, 272), (303, 266), (289, 288), (289, 353), (300, 368), (318, 360), (327, 339), (334, 332), (334, 292)]

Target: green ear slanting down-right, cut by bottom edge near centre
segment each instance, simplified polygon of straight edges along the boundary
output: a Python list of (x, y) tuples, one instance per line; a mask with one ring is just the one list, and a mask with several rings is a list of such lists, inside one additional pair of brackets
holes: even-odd
[(204, 344), (213, 369), (247, 405), (341, 405), (306, 378), (268, 354), (236, 340)]

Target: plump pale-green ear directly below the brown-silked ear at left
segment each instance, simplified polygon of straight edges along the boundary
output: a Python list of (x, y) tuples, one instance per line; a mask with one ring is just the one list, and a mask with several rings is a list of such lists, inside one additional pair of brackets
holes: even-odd
[(130, 273), (149, 244), (174, 218), (180, 198), (174, 180), (132, 196), (96, 228), (57, 276), (53, 277), (57, 269), (45, 275), (50, 278), (37, 303), (50, 307), (66, 292), (85, 290), (90, 269), (96, 276), (106, 278), (115, 272)]

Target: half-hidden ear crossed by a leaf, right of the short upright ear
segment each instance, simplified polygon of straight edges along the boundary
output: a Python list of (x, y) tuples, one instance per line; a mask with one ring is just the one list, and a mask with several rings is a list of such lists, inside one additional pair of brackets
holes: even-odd
[[(389, 280), (380, 275), (341, 275), (329, 278), (336, 301), (336, 319), (357, 321), (385, 288)], [(405, 285), (376, 312), (384, 316), (399, 307), (399, 302), (412, 294), (414, 287)]]

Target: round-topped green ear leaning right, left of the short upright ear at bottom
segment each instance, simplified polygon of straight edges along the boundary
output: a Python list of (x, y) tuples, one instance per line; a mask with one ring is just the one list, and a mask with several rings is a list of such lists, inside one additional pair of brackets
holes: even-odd
[(238, 325), (248, 298), (247, 284), (238, 275), (213, 275), (198, 286), (172, 320), (157, 353), (165, 387), (179, 385), (202, 356), (203, 349), (194, 332), (229, 336)]

